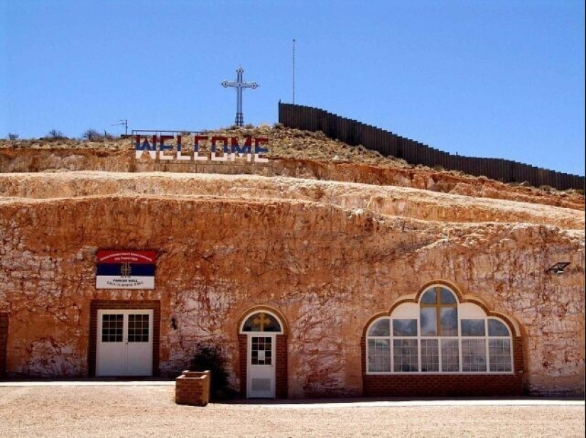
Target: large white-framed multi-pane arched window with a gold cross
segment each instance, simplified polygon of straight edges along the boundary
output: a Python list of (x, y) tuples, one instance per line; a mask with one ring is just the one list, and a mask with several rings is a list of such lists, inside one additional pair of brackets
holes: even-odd
[(511, 332), (444, 285), (367, 329), (367, 373), (512, 373)]

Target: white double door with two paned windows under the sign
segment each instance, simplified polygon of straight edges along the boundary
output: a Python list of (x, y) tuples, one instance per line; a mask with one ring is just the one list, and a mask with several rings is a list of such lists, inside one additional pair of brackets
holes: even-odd
[(151, 376), (153, 310), (98, 310), (96, 376)]

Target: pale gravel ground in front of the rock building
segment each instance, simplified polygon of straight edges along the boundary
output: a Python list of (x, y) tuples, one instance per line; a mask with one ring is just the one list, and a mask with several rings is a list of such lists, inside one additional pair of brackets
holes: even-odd
[(174, 395), (173, 385), (0, 387), (0, 437), (585, 436), (583, 402), (248, 400), (192, 407), (175, 405)]

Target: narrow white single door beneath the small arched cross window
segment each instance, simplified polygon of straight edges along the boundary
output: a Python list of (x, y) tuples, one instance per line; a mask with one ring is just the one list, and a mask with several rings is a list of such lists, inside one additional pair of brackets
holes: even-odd
[(249, 334), (248, 390), (249, 398), (275, 397), (274, 335)]

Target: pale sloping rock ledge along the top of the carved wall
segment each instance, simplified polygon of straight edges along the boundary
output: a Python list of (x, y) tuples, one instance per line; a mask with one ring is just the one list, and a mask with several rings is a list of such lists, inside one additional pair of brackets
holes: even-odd
[(409, 187), (256, 175), (185, 173), (40, 173), (0, 175), (0, 202), (77, 197), (298, 199), (374, 214), (442, 222), (506, 222), (585, 228), (583, 212)]

